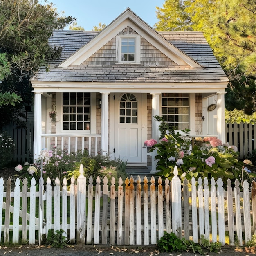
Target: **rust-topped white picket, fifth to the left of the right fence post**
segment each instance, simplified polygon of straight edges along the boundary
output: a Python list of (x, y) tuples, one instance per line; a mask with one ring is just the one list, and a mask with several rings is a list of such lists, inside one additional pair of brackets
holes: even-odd
[(136, 244), (142, 245), (141, 233), (141, 179), (138, 176), (136, 179)]

